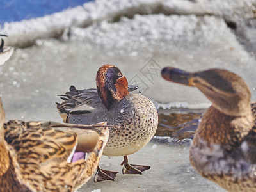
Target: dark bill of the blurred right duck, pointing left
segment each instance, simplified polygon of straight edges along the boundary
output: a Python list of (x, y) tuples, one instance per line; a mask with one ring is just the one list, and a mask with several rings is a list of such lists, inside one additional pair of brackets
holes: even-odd
[(167, 81), (172, 81), (174, 83), (185, 84), (188, 86), (195, 86), (193, 80), (193, 74), (180, 70), (174, 67), (164, 67), (161, 71), (162, 77)]

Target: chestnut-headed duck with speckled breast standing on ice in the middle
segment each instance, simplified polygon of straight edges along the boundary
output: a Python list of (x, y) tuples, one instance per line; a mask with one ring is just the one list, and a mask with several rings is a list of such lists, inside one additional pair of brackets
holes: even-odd
[(97, 90), (76, 90), (71, 86), (70, 92), (61, 95), (65, 96), (62, 97), (65, 101), (57, 108), (64, 122), (95, 124), (104, 121), (115, 125), (115, 128), (109, 127), (104, 155), (124, 156), (123, 173), (141, 174), (150, 166), (132, 165), (133, 169), (126, 156), (140, 150), (154, 136), (158, 124), (156, 107), (147, 97), (129, 93), (127, 79), (113, 65), (100, 67), (96, 81)]

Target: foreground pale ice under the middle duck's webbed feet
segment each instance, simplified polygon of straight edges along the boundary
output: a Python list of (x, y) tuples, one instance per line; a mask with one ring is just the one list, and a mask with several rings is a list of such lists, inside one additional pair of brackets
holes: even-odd
[(90, 179), (79, 191), (224, 191), (218, 185), (200, 177), (189, 164), (189, 147), (150, 142), (136, 154), (128, 156), (131, 164), (151, 166), (142, 175), (122, 175), (122, 157), (103, 156), (103, 169), (118, 171), (115, 182), (93, 183)]

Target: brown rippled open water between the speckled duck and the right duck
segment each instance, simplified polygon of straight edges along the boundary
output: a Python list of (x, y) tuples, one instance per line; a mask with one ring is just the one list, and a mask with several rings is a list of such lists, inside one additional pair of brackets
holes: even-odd
[(179, 140), (193, 138), (205, 109), (159, 109), (156, 136), (170, 136)]

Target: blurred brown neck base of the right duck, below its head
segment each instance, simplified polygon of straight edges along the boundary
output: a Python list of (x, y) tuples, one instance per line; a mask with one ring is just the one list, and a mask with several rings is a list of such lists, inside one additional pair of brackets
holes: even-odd
[(196, 129), (193, 143), (196, 144), (202, 138), (207, 143), (236, 147), (252, 127), (252, 113), (247, 116), (229, 116), (211, 106)]

